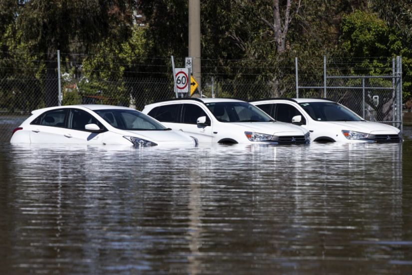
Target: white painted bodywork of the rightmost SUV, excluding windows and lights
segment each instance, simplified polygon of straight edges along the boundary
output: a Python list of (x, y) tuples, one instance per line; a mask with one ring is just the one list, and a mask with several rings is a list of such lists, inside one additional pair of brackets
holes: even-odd
[[(342, 130), (351, 130), (351, 131), (358, 131), (364, 133), (371, 133), (371, 134), (399, 134), (400, 129), (397, 127), (379, 123), (379, 122), (372, 122), (372, 121), (317, 121), (314, 120), (300, 105), (299, 103), (304, 102), (334, 102), (325, 99), (314, 99), (314, 98), (293, 98), (297, 102), (285, 99), (266, 99), (266, 100), (258, 100), (250, 102), (255, 106), (259, 107), (260, 104), (269, 104), (269, 103), (284, 103), (290, 104), (297, 108), (304, 118), (306, 119), (306, 124), (301, 125), (301, 127), (307, 129), (311, 133), (311, 140), (316, 141), (317, 138), (320, 137), (330, 137), (337, 142), (373, 142), (368, 140), (360, 140), (360, 139), (348, 139), (346, 138)], [(360, 117), (359, 115), (357, 115)], [(360, 117), (362, 119), (362, 117)]]

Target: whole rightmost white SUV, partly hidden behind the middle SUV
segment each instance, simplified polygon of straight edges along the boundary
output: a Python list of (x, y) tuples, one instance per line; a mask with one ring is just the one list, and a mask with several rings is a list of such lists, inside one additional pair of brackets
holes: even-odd
[(366, 121), (337, 102), (313, 98), (273, 98), (251, 101), (278, 121), (301, 125), (316, 142), (400, 142), (400, 129)]

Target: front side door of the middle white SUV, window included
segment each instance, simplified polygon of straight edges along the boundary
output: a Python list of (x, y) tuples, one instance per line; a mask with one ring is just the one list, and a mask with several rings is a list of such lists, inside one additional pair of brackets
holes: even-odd
[[(198, 125), (197, 118), (206, 116), (209, 125)], [(179, 130), (190, 136), (196, 137), (199, 142), (212, 142), (212, 125), (209, 115), (205, 109), (193, 103), (182, 104), (182, 118)]]

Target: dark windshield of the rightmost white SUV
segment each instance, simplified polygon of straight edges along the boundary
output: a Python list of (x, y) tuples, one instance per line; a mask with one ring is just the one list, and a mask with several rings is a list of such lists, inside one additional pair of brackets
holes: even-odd
[(317, 121), (361, 121), (356, 113), (336, 102), (305, 102), (299, 105)]

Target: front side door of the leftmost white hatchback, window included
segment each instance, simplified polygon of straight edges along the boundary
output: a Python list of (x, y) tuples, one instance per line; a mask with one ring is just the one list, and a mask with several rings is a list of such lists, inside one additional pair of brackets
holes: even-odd
[(86, 130), (84, 127), (86, 124), (94, 123), (103, 129), (103, 124), (89, 112), (71, 108), (68, 120), (67, 128), (64, 132), (66, 143), (74, 144), (101, 144), (104, 138), (105, 132), (94, 133)]

